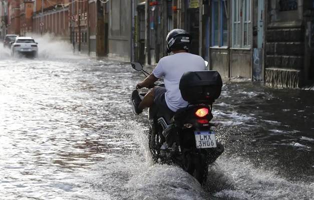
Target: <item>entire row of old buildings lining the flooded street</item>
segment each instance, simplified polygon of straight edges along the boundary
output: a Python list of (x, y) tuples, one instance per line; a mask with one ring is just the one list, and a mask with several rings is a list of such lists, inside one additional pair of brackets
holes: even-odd
[(49, 32), (75, 51), (157, 64), (167, 33), (183, 28), (193, 38), (190, 52), (225, 78), (280, 87), (314, 79), (314, 0), (20, 1), (2, 1), (2, 31)]

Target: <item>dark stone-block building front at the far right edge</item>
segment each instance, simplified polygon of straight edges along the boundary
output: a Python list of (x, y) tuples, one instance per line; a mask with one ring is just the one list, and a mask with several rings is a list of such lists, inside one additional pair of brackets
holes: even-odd
[(314, 78), (314, 1), (267, 0), (265, 82), (301, 87)]

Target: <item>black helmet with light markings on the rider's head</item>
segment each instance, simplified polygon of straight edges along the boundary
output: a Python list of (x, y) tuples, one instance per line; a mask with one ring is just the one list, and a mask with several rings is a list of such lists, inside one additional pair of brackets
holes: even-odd
[(170, 53), (173, 49), (188, 51), (192, 45), (192, 37), (186, 30), (173, 29), (168, 33), (166, 42), (167, 53)]

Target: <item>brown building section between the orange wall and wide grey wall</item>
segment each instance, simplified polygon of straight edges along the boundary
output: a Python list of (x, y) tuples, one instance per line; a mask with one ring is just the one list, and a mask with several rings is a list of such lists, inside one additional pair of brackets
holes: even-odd
[(109, 1), (71, 0), (69, 6), (70, 42), (74, 51), (91, 56), (108, 52)]

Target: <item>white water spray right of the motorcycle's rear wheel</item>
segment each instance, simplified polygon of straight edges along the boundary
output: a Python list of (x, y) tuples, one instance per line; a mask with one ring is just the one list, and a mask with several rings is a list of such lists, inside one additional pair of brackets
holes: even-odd
[(218, 159), (209, 172), (212, 184), (223, 185), (215, 193), (222, 199), (311, 199), (314, 196), (313, 184), (287, 181), (239, 157)]

